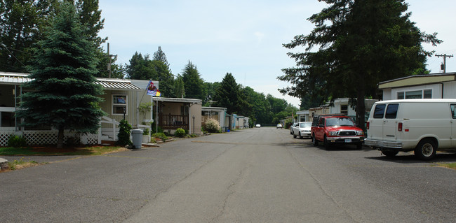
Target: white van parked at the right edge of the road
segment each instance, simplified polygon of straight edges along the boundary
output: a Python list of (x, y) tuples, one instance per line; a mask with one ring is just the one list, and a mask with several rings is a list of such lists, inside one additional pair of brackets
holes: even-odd
[(365, 145), (394, 157), (414, 151), (420, 159), (456, 148), (456, 99), (378, 101), (370, 110)]

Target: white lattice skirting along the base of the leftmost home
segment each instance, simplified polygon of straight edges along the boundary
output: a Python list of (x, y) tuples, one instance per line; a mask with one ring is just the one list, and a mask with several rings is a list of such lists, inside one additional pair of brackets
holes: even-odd
[[(16, 135), (21, 135), (27, 141), (27, 145), (55, 145), (57, 144), (58, 131), (0, 131), (0, 146), (8, 145), (8, 138)], [(65, 132), (63, 142), (66, 143), (69, 137), (74, 137), (74, 133)], [(81, 136), (81, 143), (84, 145), (98, 144), (98, 135), (84, 134)]]

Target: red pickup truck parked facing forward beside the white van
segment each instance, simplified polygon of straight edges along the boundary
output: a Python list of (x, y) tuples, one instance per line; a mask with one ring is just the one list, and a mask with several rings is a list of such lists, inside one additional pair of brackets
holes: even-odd
[(363, 129), (356, 127), (348, 116), (318, 115), (314, 117), (310, 131), (315, 146), (321, 141), (326, 149), (334, 144), (356, 145), (358, 150), (363, 148)]

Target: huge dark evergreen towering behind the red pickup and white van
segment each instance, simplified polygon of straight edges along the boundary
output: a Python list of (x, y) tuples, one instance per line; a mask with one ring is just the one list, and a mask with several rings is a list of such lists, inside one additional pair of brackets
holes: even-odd
[(410, 22), (403, 0), (322, 1), (328, 7), (309, 18), (316, 28), (284, 45), (290, 49), (302, 45), (305, 52), (288, 53), (297, 66), (283, 69), (285, 75), (278, 79), (293, 86), (281, 92), (356, 98), (357, 124), (364, 128), (364, 98), (376, 96), (377, 83), (424, 69), (433, 52), (423, 50), (421, 43), (441, 41)]

